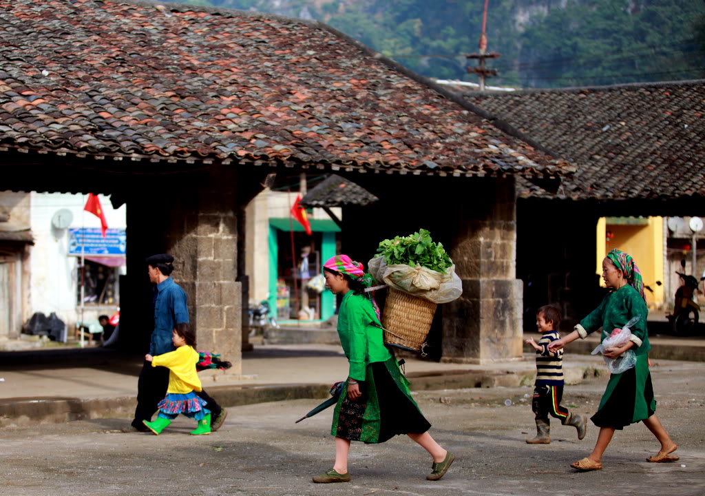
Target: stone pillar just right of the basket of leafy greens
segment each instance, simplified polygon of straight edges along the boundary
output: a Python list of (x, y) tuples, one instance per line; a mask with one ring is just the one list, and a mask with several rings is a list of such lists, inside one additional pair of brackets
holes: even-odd
[(515, 279), (513, 178), (475, 183), (458, 209), (450, 258), (462, 296), (443, 311), (442, 361), (490, 363), (522, 356), (522, 282)]

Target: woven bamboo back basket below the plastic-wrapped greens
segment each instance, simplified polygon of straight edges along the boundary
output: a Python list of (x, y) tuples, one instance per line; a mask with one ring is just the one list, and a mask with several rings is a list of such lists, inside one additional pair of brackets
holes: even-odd
[(382, 315), (384, 342), (397, 348), (424, 353), (436, 306), (436, 303), (424, 298), (388, 287)]

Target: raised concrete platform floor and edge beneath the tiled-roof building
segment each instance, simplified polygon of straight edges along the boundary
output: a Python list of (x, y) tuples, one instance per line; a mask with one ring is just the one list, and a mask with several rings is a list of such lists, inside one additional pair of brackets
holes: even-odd
[[(596, 344), (592, 337), (570, 344), (564, 361), (569, 383), (603, 370), (602, 359), (589, 354)], [(651, 358), (705, 361), (705, 339), (654, 335), (651, 346)], [(406, 373), (419, 391), (532, 385), (534, 355), (526, 351), (523, 360), (486, 365), (407, 356)], [(0, 428), (130, 416), (141, 368), (142, 356), (102, 348), (1, 352)], [(347, 362), (339, 345), (257, 345), (243, 353), (242, 372), (208, 371), (200, 377), (225, 406), (324, 399), (330, 385), (347, 375)]]

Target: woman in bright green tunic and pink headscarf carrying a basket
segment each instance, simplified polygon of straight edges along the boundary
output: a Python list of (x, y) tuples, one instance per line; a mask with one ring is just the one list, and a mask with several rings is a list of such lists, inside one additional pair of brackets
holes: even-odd
[(360, 262), (338, 255), (324, 264), (326, 287), (342, 294), (338, 336), (350, 364), (348, 380), (333, 412), (331, 435), (336, 437), (336, 461), (315, 483), (348, 482), (350, 441), (385, 442), (406, 434), (431, 454), (428, 480), (439, 480), (455, 457), (427, 432), (431, 424), (412, 399), (409, 382), (393, 353), (384, 346), (379, 309), (364, 292), (374, 280)]

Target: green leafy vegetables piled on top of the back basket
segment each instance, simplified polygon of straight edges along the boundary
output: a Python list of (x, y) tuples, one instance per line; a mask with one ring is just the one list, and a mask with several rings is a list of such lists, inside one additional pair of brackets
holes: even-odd
[(436, 272), (446, 272), (453, 265), (448, 253), (443, 249), (443, 244), (431, 241), (431, 233), (426, 229), (419, 229), (411, 236), (396, 236), (394, 239), (385, 239), (379, 243), (377, 257), (384, 256), (387, 265), (421, 265)]

